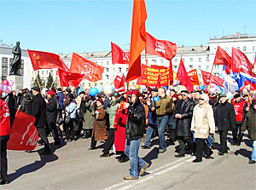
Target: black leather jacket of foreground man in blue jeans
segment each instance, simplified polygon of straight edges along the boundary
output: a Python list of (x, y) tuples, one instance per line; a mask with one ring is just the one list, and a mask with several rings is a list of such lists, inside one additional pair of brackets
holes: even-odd
[(143, 137), (145, 133), (146, 116), (143, 104), (140, 101), (128, 107), (127, 124), (125, 127), (125, 138), (135, 140)]

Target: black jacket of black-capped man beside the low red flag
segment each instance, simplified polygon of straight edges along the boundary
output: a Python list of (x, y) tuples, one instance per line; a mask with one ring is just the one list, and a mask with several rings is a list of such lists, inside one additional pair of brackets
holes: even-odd
[(46, 122), (46, 103), (41, 94), (35, 95), (32, 102), (32, 116), (36, 118), (37, 128), (47, 126)]

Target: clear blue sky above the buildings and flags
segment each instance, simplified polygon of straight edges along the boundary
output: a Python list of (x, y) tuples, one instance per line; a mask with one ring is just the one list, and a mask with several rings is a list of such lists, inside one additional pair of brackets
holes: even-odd
[[(256, 1), (145, 0), (146, 30), (178, 45), (207, 44), (235, 32), (256, 35)], [(3, 43), (52, 53), (130, 48), (132, 0), (3, 1)]]

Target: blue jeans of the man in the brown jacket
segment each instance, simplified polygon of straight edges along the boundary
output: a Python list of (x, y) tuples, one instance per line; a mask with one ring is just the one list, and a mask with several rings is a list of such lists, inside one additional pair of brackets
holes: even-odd
[(165, 138), (165, 130), (166, 124), (168, 122), (169, 116), (160, 116), (156, 119), (157, 130), (159, 135), (159, 149), (166, 151), (166, 138)]

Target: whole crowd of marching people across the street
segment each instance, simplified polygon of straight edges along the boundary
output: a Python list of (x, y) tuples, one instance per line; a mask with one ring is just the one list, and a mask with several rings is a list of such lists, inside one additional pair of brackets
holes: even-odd
[[(1, 184), (8, 183), (7, 141), (15, 118), (22, 112), (36, 118), (35, 127), (44, 145), (41, 155), (52, 154), (51, 146), (61, 146), (79, 138), (90, 138), (89, 150), (96, 149), (97, 141), (106, 141), (101, 158), (108, 158), (110, 151), (119, 154), (119, 162), (130, 160), (130, 173), (125, 180), (137, 180), (143, 176), (149, 163), (138, 157), (139, 147), (150, 149), (152, 139), (159, 136), (159, 153), (178, 142), (176, 158), (186, 153), (195, 155), (193, 163), (211, 158), (215, 145), (214, 133), (218, 133), (218, 155), (223, 156), (227, 146), (228, 131), (232, 131), (232, 146), (240, 146), (245, 130), (253, 143), (249, 164), (256, 163), (256, 98), (236, 91), (233, 99), (225, 94), (209, 94), (204, 90), (176, 92), (165, 88), (140, 92), (132, 89), (126, 93), (113, 92), (89, 95), (89, 89), (73, 92), (71, 89), (51, 88), (44, 94), (39, 87), (15, 90), (2, 96), (1, 109)], [(126, 101), (126, 98), (128, 101)], [(166, 133), (168, 132), (168, 133)], [(166, 139), (166, 134), (169, 138)], [(54, 142), (49, 144), (48, 136)], [(143, 142), (143, 145), (141, 145)], [(189, 151), (186, 150), (189, 147)], [(27, 151), (30, 153), (30, 151)]]

